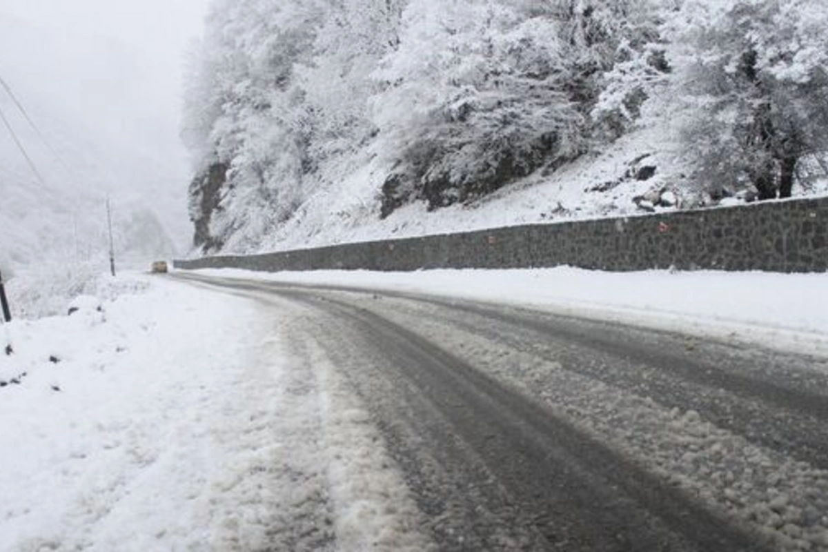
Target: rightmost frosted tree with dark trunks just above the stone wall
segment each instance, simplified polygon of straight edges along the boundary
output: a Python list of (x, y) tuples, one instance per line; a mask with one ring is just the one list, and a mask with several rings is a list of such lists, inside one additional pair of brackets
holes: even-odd
[(828, 151), (824, 2), (688, 0), (674, 27), (700, 181), (790, 196), (803, 157)]

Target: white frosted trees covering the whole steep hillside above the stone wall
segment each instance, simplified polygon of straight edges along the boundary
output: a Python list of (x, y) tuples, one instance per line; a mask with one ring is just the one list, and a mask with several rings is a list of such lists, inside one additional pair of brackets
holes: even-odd
[(681, 127), (694, 182), (787, 194), (828, 149), (820, 4), (215, 0), (186, 94), (195, 243), (255, 249), (354, 185), (377, 217), (468, 203), (645, 114)]

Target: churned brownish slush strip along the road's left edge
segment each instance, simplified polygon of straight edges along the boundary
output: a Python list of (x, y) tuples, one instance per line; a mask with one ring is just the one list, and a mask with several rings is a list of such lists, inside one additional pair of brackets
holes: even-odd
[(277, 422), (263, 439), (279, 446), (283, 465), (268, 469), (278, 500), (268, 508), (267, 545), (257, 550), (434, 550), (382, 435), (320, 347), (306, 310), (258, 299), (281, 320), (271, 354), (287, 361), (271, 397)]

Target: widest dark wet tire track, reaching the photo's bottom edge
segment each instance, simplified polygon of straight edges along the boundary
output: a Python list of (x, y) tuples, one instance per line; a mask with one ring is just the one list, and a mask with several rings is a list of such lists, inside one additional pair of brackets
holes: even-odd
[[(338, 300), (290, 295), (338, 313), (349, 320), (347, 324), (363, 327), (359, 334), (365, 336), (368, 347), (355, 351), (363, 356), (370, 350), (382, 352), (385, 362), (379, 366), (396, 374), (396, 385), (385, 391), (392, 394), (393, 402), (404, 405), (403, 415), (406, 410), (416, 412), (403, 422), (414, 425), (413, 430), (408, 429), (408, 439), (413, 437), (418, 446), (432, 453), (453, 439), (463, 442), (460, 446), (449, 445), (460, 454), (436, 453), (454, 478), (434, 473), (440, 470), (420, 473), (421, 463), (406, 465), (407, 459), (418, 454), (410, 445), (399, 459), (409, 470), (407, 475), (420, 494), (424, 511), (434, 502), (443, 502), (431, 512), (438, 520), (433, 528), (442, 550), (498, 550), (504, 546), (515, 550), (763, 549), (761, 539), (743, 534), (737, 526), (628, 463), (565, 420), (389, 319)], [(350, 366), (354, 366), (353, 360)], [(377, 372), (362, 376), (354, 373), (356, 385), (374, 397), (379, 396), (372, 389), (378, 377), (381, 375)], [(406, 386), (401, 378), (413, 383), (415, 394), (427, 396), (426, 404), (397, 392)], [(399, 418), (399, 409), (398, 405), (391, 410), (381, 409), (380, 420)], [(445, 423), (455, 432), (453, 439), (450, 433), (435, 430)], [(389, 440), (407, 439), (392, 433)], [(473, 454), (463, 454), (464, 448)], [(469, 470), (475, 459), (484, 463), (484, 470)], [(435, 475), (438, 484), (428, 485), (427, 479)], [(491, 496), (497, 495), (498, 489), (489, 492), (489, 497), (481, 497), (486, 493), (480, 489), (486, 487), (498, 487), (502, 495), (499, 500)], [(470, 491), (484, 500), (474, 510), (464, 511), (469, 505), (458, 503), (452, 495)], [(487, 512), (480, 506), (499, 506), (500, 510)], [(449, 530), (440, 530), (443, 516), (454, 516)], [(481, 530), (476, 523), (465, 526), (463, 521), (474, 516), (489, 516), (495, 523), (489, 521), (486, 526), (509, 530), (503, 534)], [(542, 539), (537, 538), (538, 534)]]

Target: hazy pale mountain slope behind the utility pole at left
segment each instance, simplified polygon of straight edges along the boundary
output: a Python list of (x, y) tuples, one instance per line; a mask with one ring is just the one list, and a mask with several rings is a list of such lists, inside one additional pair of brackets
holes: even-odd
[[(0, 15), (0, 77), (40, 131), (0, 88), (0, 109), (42, 176), (0, 126), (0, 266), (105, 255), (107, 196), (123, 262), (184, 245), (188, 164), (176, 132), (158, 127), (175, 113), (153, 113), (152, 72), (135, 56)], [(130, 110), (143, 115), (122, 117)]]

